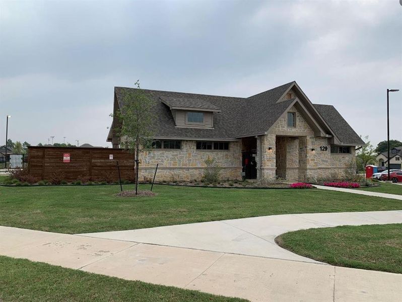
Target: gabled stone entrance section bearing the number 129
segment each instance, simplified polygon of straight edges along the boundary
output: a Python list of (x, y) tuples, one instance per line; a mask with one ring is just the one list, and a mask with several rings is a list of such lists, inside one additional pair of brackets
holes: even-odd
[[(261, 162), (258, 175), (268, 179), (281, 177), (306, 181), (311, 177), (342, 173), (355, 158), (355, 147), (351, 146), (350, 154), (331, 154), (329, 138), (314, 136), (313, 130), (295, 107), (289, 112), (296, 113), (295, 127), (288, 127), (286, 112), (266, 135), (259, 137), (262, 151), (257, 157)], [(282, 162), (277, 163), (277, 159)]]

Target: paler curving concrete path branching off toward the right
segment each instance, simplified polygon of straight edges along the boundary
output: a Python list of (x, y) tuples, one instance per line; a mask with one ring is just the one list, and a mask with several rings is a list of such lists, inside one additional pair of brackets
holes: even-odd
[(402, 210), (271, 215), (80, 235), (213, 252), (316, 262), (282, 249), (275, 243), (275, 238), (283, 233), (301, 229), (326, 228), (345, 224), (386, 223), (402, 223)]

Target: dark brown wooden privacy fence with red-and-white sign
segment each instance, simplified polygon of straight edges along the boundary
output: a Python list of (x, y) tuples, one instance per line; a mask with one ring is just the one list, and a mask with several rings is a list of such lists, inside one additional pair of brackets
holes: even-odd
[(41, 180), (134, 181), (134, 155), (124, 149), (28, 147), (28, 173)]

